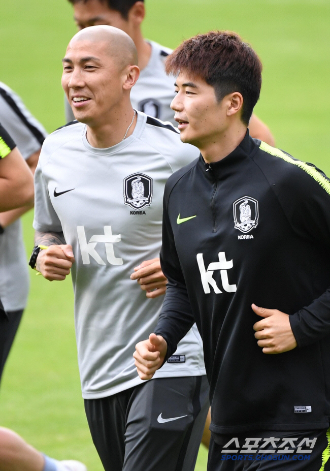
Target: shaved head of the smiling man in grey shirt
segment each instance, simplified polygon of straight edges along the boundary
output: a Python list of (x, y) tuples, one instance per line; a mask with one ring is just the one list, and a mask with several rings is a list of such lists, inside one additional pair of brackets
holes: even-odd
[(139, 68), (126, 33), (106, 25), (85, 28), (72, 38), (62, 61), (62, 87), (76, 119), (97, 127), (131, 109), (129, 92)]

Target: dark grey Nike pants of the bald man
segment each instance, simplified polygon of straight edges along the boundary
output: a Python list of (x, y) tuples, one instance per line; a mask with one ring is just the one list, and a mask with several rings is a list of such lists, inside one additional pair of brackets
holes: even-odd
[(193, 471), (209, 410), (206, 376), (157, 378), (85, 399), (105, 471)]

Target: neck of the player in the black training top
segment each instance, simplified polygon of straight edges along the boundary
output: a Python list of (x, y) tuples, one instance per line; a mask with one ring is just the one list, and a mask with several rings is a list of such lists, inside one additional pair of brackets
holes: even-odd
[(246, 125), (241, 121), (226, 129), (216, 139), (210, 140), (208, 143), (199, 146), (203, 159), (208, 164), (218, 162), (224, 159), (230, 152), (243, 141), (246, 134)]

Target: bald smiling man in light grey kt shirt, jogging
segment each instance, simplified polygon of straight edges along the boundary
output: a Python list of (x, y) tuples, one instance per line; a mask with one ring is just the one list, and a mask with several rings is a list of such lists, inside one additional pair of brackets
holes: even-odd
[(150, 382), (133, 353), (166, 288), (164, 184), (198, 151), (171, 124), (133, 109), (139, 72), (120, 29), (93, 26), (70, 41), (62, 86), (78, 121), (42, 148), (30, 265), (48, 280), (72, 273), (82, 393), (106, 471), (192, 471), (209, 408), (196, 326)]

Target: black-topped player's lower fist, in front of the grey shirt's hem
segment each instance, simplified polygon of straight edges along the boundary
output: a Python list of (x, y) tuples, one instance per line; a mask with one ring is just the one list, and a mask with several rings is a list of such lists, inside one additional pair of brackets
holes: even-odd
[(151, 380), (155, 371), (163, 364), (168, 346), (161, 335), (150, 334), (135, 346), (133, 356), (141, 380)]

